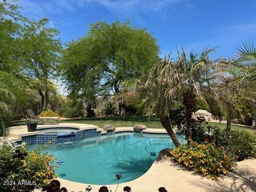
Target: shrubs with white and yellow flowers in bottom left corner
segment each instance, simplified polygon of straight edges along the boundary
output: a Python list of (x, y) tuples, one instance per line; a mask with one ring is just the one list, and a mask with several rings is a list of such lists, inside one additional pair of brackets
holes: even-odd
[[(46, 186), (56, 177), (50, 164), (54, 161), (55, 158), (41, 154), (38, 149), (27, 151), (24, 143), (17, 145), (3, 141), (0, 143), (0, 191), (13, 191), (13, 187), (18, 191)], [(31, 185), (19, 185), (22, 180), (30, 181)], [(5, 181), (13, 181), (13, 185), (4, 185)]]

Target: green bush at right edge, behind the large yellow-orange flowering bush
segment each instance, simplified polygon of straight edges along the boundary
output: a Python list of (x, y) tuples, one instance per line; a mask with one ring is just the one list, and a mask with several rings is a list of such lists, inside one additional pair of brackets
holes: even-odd
[(237, 161), (256, 157), (256, 135), (246, 131), (231, 131), (231, 137), (226, 137), (225, 130), (215, 129), (212, 135), (217, 146), (225, 146), (236, 157)]

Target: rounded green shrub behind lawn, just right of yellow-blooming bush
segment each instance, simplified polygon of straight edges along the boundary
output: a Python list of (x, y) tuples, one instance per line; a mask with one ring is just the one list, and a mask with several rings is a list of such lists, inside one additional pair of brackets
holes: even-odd
[(63, 102), (61, 116), (63, 117), (82, 117), (84, 115), (83, 102), (79, 99), (68, 98)]

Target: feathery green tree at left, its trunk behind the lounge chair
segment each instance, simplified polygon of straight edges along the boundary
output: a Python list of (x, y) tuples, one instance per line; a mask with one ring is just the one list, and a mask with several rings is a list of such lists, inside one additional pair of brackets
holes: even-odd
[(28, 79), (34, 79), (34, 89), (42, 100), (41, 110), (49, 104), (50, 78), (55, 75), (61, 51), (59, 31), (47, 27), (48, 20), (30, 21), (22, 28), (22, 71)]

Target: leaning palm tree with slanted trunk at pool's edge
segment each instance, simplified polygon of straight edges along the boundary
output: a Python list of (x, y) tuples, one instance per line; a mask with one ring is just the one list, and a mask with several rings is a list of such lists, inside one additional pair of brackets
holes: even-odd
[(179, 85), (175, 84), (178, 82), (175, 79), (180, 77), (170, 58), (169, 56), (164, 61), (157, 62), (148, 77), (142, 76), (132, 82), (126, 82), (117, 98), (126, 103), (142, 100), (143, 107), (149, 109), (149, 114), (156, 113), (174, 145), (179, 146), (180, 143), (171, 127), (169, 111), (177, 105), (175, 98)]

